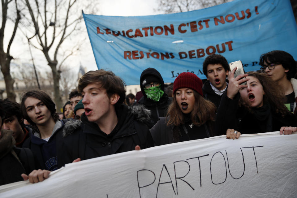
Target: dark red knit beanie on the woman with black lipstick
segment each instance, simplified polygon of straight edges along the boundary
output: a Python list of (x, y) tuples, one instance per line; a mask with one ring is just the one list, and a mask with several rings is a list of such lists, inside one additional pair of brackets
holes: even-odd
[(198, 92), (203, 97), (202, 80), (191, 72), (183, 72), (179, 74), (173, 83), (173, 93), (179, 88), (190, 88)]

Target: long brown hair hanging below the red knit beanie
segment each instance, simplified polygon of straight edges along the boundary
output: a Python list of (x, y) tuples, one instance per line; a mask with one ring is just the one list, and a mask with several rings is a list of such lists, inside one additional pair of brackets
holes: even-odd
[[(193, 124), (200, 127), (207, 121), (215, 121), (216, 117), (216, 106), (208, 100), (205, 100), (199, 93), (193, 90), (195, 97), (194, 108), (191, 112), (191, 120)], [(176, 93), (174, 93), (173, 101), (168, 107), (168, 113), (170, 115), (167, 126), (174, 125), (179, 126), (184, 124), (182, 110), (179, 108), (179, 104), (176, 101)]]

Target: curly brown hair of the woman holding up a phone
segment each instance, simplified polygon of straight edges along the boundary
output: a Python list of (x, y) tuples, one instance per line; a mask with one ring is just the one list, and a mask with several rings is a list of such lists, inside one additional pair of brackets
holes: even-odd
[[(251, 71), (248, 72), (248, 75), (257, 78), (260, 81), (265, 93), (263, 95), (263, 102), (269, 103), (272, 106), (272, 111), (280, 113), (282, 116), (285, 116), (286, 114), (290, 113), (284, 105), (284, 103), (286, 102), (286, 97), (282, 96), (282, 93), (278, 89), (278, 85), (276, 84), (276, 82), (274, 82), (264, 73)], [(245, 104), (241, 98), (239, 99), (239, 106), (244, 106), (249, 111), (252, 111), (251, 107)]]

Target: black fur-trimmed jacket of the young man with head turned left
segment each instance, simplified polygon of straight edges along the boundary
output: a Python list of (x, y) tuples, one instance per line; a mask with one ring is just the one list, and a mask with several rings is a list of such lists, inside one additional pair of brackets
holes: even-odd
[(88, 121), (82, 114), (81, 121), (65, 124), (63, 138), (57, 144), (58, 167), (71, 163), (80, 157), (81, 160), (122, 153), (135, 149), (153, 146), (147, 120), (149, 111), (141, 105), (127, 107), (121, 105), (116, 110), (118, 123), (110, 134), (105, 134), (96, 123)]

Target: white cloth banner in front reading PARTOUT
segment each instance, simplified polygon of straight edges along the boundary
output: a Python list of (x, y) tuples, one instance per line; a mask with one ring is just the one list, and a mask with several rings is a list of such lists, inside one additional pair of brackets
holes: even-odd
[(297, 134), (217, 136), (67, 164), (0, 197), (294, 197)]

